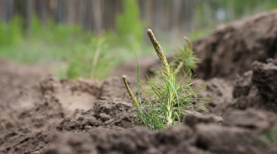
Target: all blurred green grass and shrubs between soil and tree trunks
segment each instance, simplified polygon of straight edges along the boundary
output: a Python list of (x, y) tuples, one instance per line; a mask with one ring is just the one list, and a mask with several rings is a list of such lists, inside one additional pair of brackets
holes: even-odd
[[(25, 21), (15, 15), (9, 23), (0, 22), (0, 57), (24, 64), (51, 65), (58, 78), (102, 80), (120, 63), (135, 59), (134, 53), (155, 54), (151, 44), (144, 41), (148, 27), (140, 19), (137, 1), (124, 0), (122, 7), (117, 29), (103, 32), (100, 40), (100, 34), (84, 31), (80, 25), (66, 26), (53, 20), (43, 25), (36, 16), (32, 17), (29, 28), (25, 28)], [(194, 7), (193, 28), (187, 36), (196, 40), (219, 23), (274, 8), (277, 2), (273, 0), (204, 1)], [(167, 55), (185, 44), (182, 38), (168, 40), (166, 33), (159, 36)], [(97, 63), (92, 66), (97, 48)]]

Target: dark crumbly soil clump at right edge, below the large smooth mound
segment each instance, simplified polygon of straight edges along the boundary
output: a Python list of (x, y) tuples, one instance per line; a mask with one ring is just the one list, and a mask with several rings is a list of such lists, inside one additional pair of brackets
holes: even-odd
[(277, 60), (255, 61), (252, 70), (236, 80), (235, 107), (265, 109), (277, 113)]

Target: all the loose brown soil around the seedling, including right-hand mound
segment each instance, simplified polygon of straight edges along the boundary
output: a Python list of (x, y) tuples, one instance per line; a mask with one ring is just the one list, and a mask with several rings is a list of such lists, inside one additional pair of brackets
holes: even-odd
[[(159, 132), (122, 115), (133, 103), (121, 76), (135, 92), (135, 60), (99, 82), (0, 59), (0, 153), (277, 153), (276, 21), (277, 10), (262, 13), (194, 42), (209, 112)], [(139, 59), (144, 80), (158, 63)]]

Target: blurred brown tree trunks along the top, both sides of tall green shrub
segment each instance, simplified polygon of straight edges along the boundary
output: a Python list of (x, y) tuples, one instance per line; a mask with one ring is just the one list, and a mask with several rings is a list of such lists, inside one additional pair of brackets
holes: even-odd
[[(116, 18), (122, 11), (123, 0), (0, 0), (0, 19), (8, 22), (13, 14), (24, 14), (26, 26), (30, 26), (34, 10), (42, 24), (48, 17), (56, 23), (79, 23), (86, 30), (116, 29)], [(147, 28), (172, 35), (185, 35), (193, 25), (193, 6), (198, 0), (136, 0), (141, 8), (141, 18)], [(213, 0), (205, 3), (212, 4)], [(15, 7), (15, 8), (14, 8)], [(170, 38), (169, 38), (170, 39)]]

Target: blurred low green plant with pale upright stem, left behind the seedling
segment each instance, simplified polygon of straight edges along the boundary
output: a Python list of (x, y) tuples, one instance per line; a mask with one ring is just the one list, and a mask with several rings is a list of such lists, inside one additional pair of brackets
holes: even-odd
[(103, 33), (92, 37), (89, 44), (80, 45), (75, 52), (68, 54), (66, 75), (70, 79), (79, 77), (100, 80), (108, 76), (115, 65), (109, 44)]

